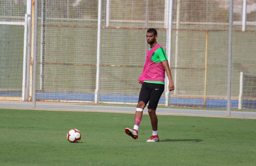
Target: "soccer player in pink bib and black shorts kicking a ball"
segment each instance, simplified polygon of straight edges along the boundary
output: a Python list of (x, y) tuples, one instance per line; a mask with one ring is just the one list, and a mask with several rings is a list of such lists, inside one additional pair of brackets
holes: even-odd
[(142, 86), (135, 113), (134, 128), (125, 128), (125, 132), (133, 139), (138, 138), (138, 129), (142, 119), (143, 110), (149, 102), (148, 113), (151, 120), (153, 134), (147, 142), (157, 142), (159, 141), (159, 137), (157, 131), (158, 119), (156, 109), (159, 99), (165, 89), (165, 71), (169, 79), (169, 91), (174, 90), (174, 84), (165, 49), (156, 41), (157, 31), (153, 28), (149, 29), (146, 34), (146, 39), (148, 44), (150, 44), (150, 48), (147, 49), (144, 69), (138, 79)]

